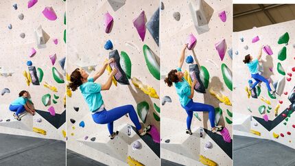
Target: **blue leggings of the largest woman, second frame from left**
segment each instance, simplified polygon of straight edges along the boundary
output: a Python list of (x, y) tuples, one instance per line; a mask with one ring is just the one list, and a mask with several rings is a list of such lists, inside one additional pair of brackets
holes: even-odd
[(111, 110), (104, 109), (93, 114), (92, 118), (93, 121), (95, 121), (95, 123), (108, 123), (108, 132), (110, 132), (110, 134), (113, 134), (114, 121), (119, 119), (120, 117), (123, 117), (127, 113), (129, 114), (129, 117), (131, 121), (134, 123), (137, 130), (141, 130), (141, 123), (139, 123), (137, 112), (135, 112), (134, 107), (132, 105), (119, 106)]

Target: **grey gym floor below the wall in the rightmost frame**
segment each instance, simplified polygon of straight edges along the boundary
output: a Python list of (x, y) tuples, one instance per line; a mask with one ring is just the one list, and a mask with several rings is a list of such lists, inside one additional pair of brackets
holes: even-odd
[(233, 165), (294, 166), (295, 150), (267, 139), (234, 135)]

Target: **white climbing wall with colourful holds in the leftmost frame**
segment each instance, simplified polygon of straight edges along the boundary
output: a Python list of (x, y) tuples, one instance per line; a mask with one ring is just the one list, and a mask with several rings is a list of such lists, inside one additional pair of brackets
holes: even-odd
[[(14, 10), (14, 3), (17, 3), (17, 10)], [(54, 8), (58, 19), (49, 21), (42, 14), (45, 7)], [(62, 72), (58, 60), (65, 56), (65, 43), (63, 41), (63, 31), (65, 29), (64, 21), (65, 2), (64, 1), (38, 1), (32, 8), (27, 8), (27, 1), (0, 1), (0, 91), (3, 88), (9, 88), (10, 93), (0, 95), (0, 131), (7, 134), (18, 134), (29, 137), (41, 137), (45, 139), (64, 140), (62, 130), (65, 130), (65, 123), (56, 129), (43, 117), (38, 115), (24, 115), (21, 121), (16, 121), (9, 110), (10, 103), (19, 97), (19, 92), (22, 90), (29, 91), (34, 107), (37, 110), (48, 112), (49, 106), (44, 106), (41, 99), (43, 95), (49, 93), (51, 95), (51, 105), (54, 106), (56, 113), (61, 114), (64, 111), (63, 96), (64, 85), (58, 84), (52, 75), (51, 60), (49, 55), (56, 54), (57, 60), (54, 67)], [(23, 14), (23, 20), (19, 19), (19, 14)], [(8, 25), (12, 25), (12, 29), (8, 29)], [(36, 37), (34, 29), (42, 25), (43, 29), (50, 38), (47, 41), (46, 47), (38, 49), (36, 45)], [(21, 38), (20, 34), (24, 33), (25, 38)], [(58, 38), (58, 45), (53, 42), (54, 38)], [(29, 58), (29, 51), (34, 47), (36, 54)], [(33, 66), (40, 67), (44, 72), (43, 81), (40, 85), (30, 84), (27, 86), (23, 71), (28, 71), (27, 60), (31, 60)], [(5, 73), (12, 72), (11, 76), (6, 77)], [(54, 93), (43, 86), (43, 82), (47, 82), (58, 88), (58, 92)], [(57, 104), (52, 102), (54, 94), (59, 97), (56, 99)], [(37, 119), (42, 119), (40, 123)], [(8, 122), (7, 120), (10, 119)], [(43, 129), (47, 132), (46, 135), (33, 132), (33, 127)]]

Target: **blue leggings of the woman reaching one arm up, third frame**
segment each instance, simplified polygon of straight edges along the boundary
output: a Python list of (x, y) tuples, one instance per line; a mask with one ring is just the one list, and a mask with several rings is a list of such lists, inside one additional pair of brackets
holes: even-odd
[(202, 103), (195, 103), (191, 99), (186, 106), (182, 106), (187, 111), (187, 129), (191, 129), (191, 120), (193, 119), (193, 111), (208, 111), (211, 128), (215, 127), (215, 109), (213, 106)]

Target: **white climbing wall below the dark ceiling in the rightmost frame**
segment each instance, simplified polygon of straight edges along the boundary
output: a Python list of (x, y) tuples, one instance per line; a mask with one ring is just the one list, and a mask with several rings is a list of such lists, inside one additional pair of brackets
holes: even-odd
[[(283, 110), (290, 106), (291, 102), (289, 101), (289, 99), (287, 99), (287, 97), (290, 95), (295, 85), (295, 73), (292, 71), (292, 67), (295, 67), (295, 49), (293, 47), (295, 28), (294, 22), (295, 21), (287, 21), (285, 23), (278, 23), (274, 25), (268, 25), (266, 27), (252, 28), (242, 32), (233, 33), (233, 109), (235, 110), (234, 112), (239, 113), (239, 117), (252, 115), (255, 117), (263, 118), (264, 115), (268, 115), (268, 118), (270, 120), (274, 120), (276, 118), (274, 115), (274, 108), (276, 108), (278, 104), (280, 105), (278, 112), (279, 116), (280, 113), (283, 112)], [(283, 34), (285, 34), (285, 32), (289, 33), (289, 44), (279, 45), (277, 42), (279, 38), (283, 36)], [(252, 38), (254, 38), (255, 36), (259, 36), (260, 40), (256, 43), (252, 43)], [(244, 42), (241, 42), (240, 38), (244, 38)], [(244, 49), (246, 45), (248, 46), (248, 50)], [(242, 60), (244, 60), (244, 56), (246, 56), (247, 54), (250, 54), (253, 57), (257, 57), (259, 47), (261, 45), (270, 45), (273, 52), (272, 56), (268, 56), (266, 52), (262, 51), (262, 64), (264, 69), (264, 73), (262, 75), (265, 78), (271, 78), (271, 82), (276, 82), (281, 78), (285, 79), (285, 87), (283, 88), (283, 92), (287, 92), (287, 95), (285, 95), (284, 93), (281, 96), (276, 94), (276, 99), (271, 99), (267, 93), (266, 84), (262, 82), (260, 84), (261, 94), (259, 95), (258, 99), (254, 99), (252, 97), (248, 99), (245, 87), (248, 86), (248, 80), (251, 78), (251, 76), (248, 71), (248, 67), (246, 66), (246, 64), (244, 64), (244, 62), (242, 62)], [(278, 53), (284, 46), (287, 48), (287, 58), (286, 60), (281, 61), (278, 59)], [(281, 62), (286, 75), (281, 75), (280, 73), (278, 73), (278, 70), (276, 69), (278, 62)], [(270, 71), (271, 68), (272, 71)], [(292, 73), (292, 77), (287, 75), (287, 73)], [(287, 78), (291, 78), (291, 80), (287, 81)], [(272, 85), (271, 87), (273, 88)], [(261, 97), (268, 99), (270, 101), (270, 104), (266, 104), (265, 102), (261, 101)], [(281, 104), (280, 101), (283, 103)], [(270, 112), (268, 113), (266, 111), (261, 115), (258, 111), (258, 108), (262, 105), (266, 106), (266, 108), (270, 106)], [(252, 112), (248, 110), (248, 106), (250, 107), (250, 110), (252, 110)], [(235, 115), (234, 121), (235, 119), (238, 119), (238, 117), (236, 117)], [(283, 143), (284, 145), (294, 148), (295, 144), (293, 141), (291, 141), (292, 139), (294, 140), (295, 132), (295, 128), (292, 128), (292, 125), (294, 125), (294, 120), (292, 121), (292, 119), (294, 119), (293, 114), (291, 115), (291, 117), (288, 118), (288, 121), (284, 119), (283, 121), (281, 121), (281, 123), (279, 123), (278, 126), (270, 130), (270, 132), (263, 128), (260, 123), (258, 123), (258, 126), (253, 126), (254, 123), (252, 123), (250, 129), (261, 132), (261, 137), (258, 136), (259, 138), (272, 139), (274, 141)], [(253, 119), (253, 121), (255, 120)], [(249, 131), (244, 130), (243, 132), (241, 132), (240, 130), (236, 130), (235, 124), (234, 129), (235, 134), (245, 135), (248, 137), (257, 137), (257, 135), (249, 133)], [(273, 132), (275, 132), (276, 134), (282, 133), (285, 135), (285, 137), (280, 136), (278, 139), (275, 139), (274, 137), (272, 137)], [(288, 135), (287, 132), (291, 132), (292, 134)]]

